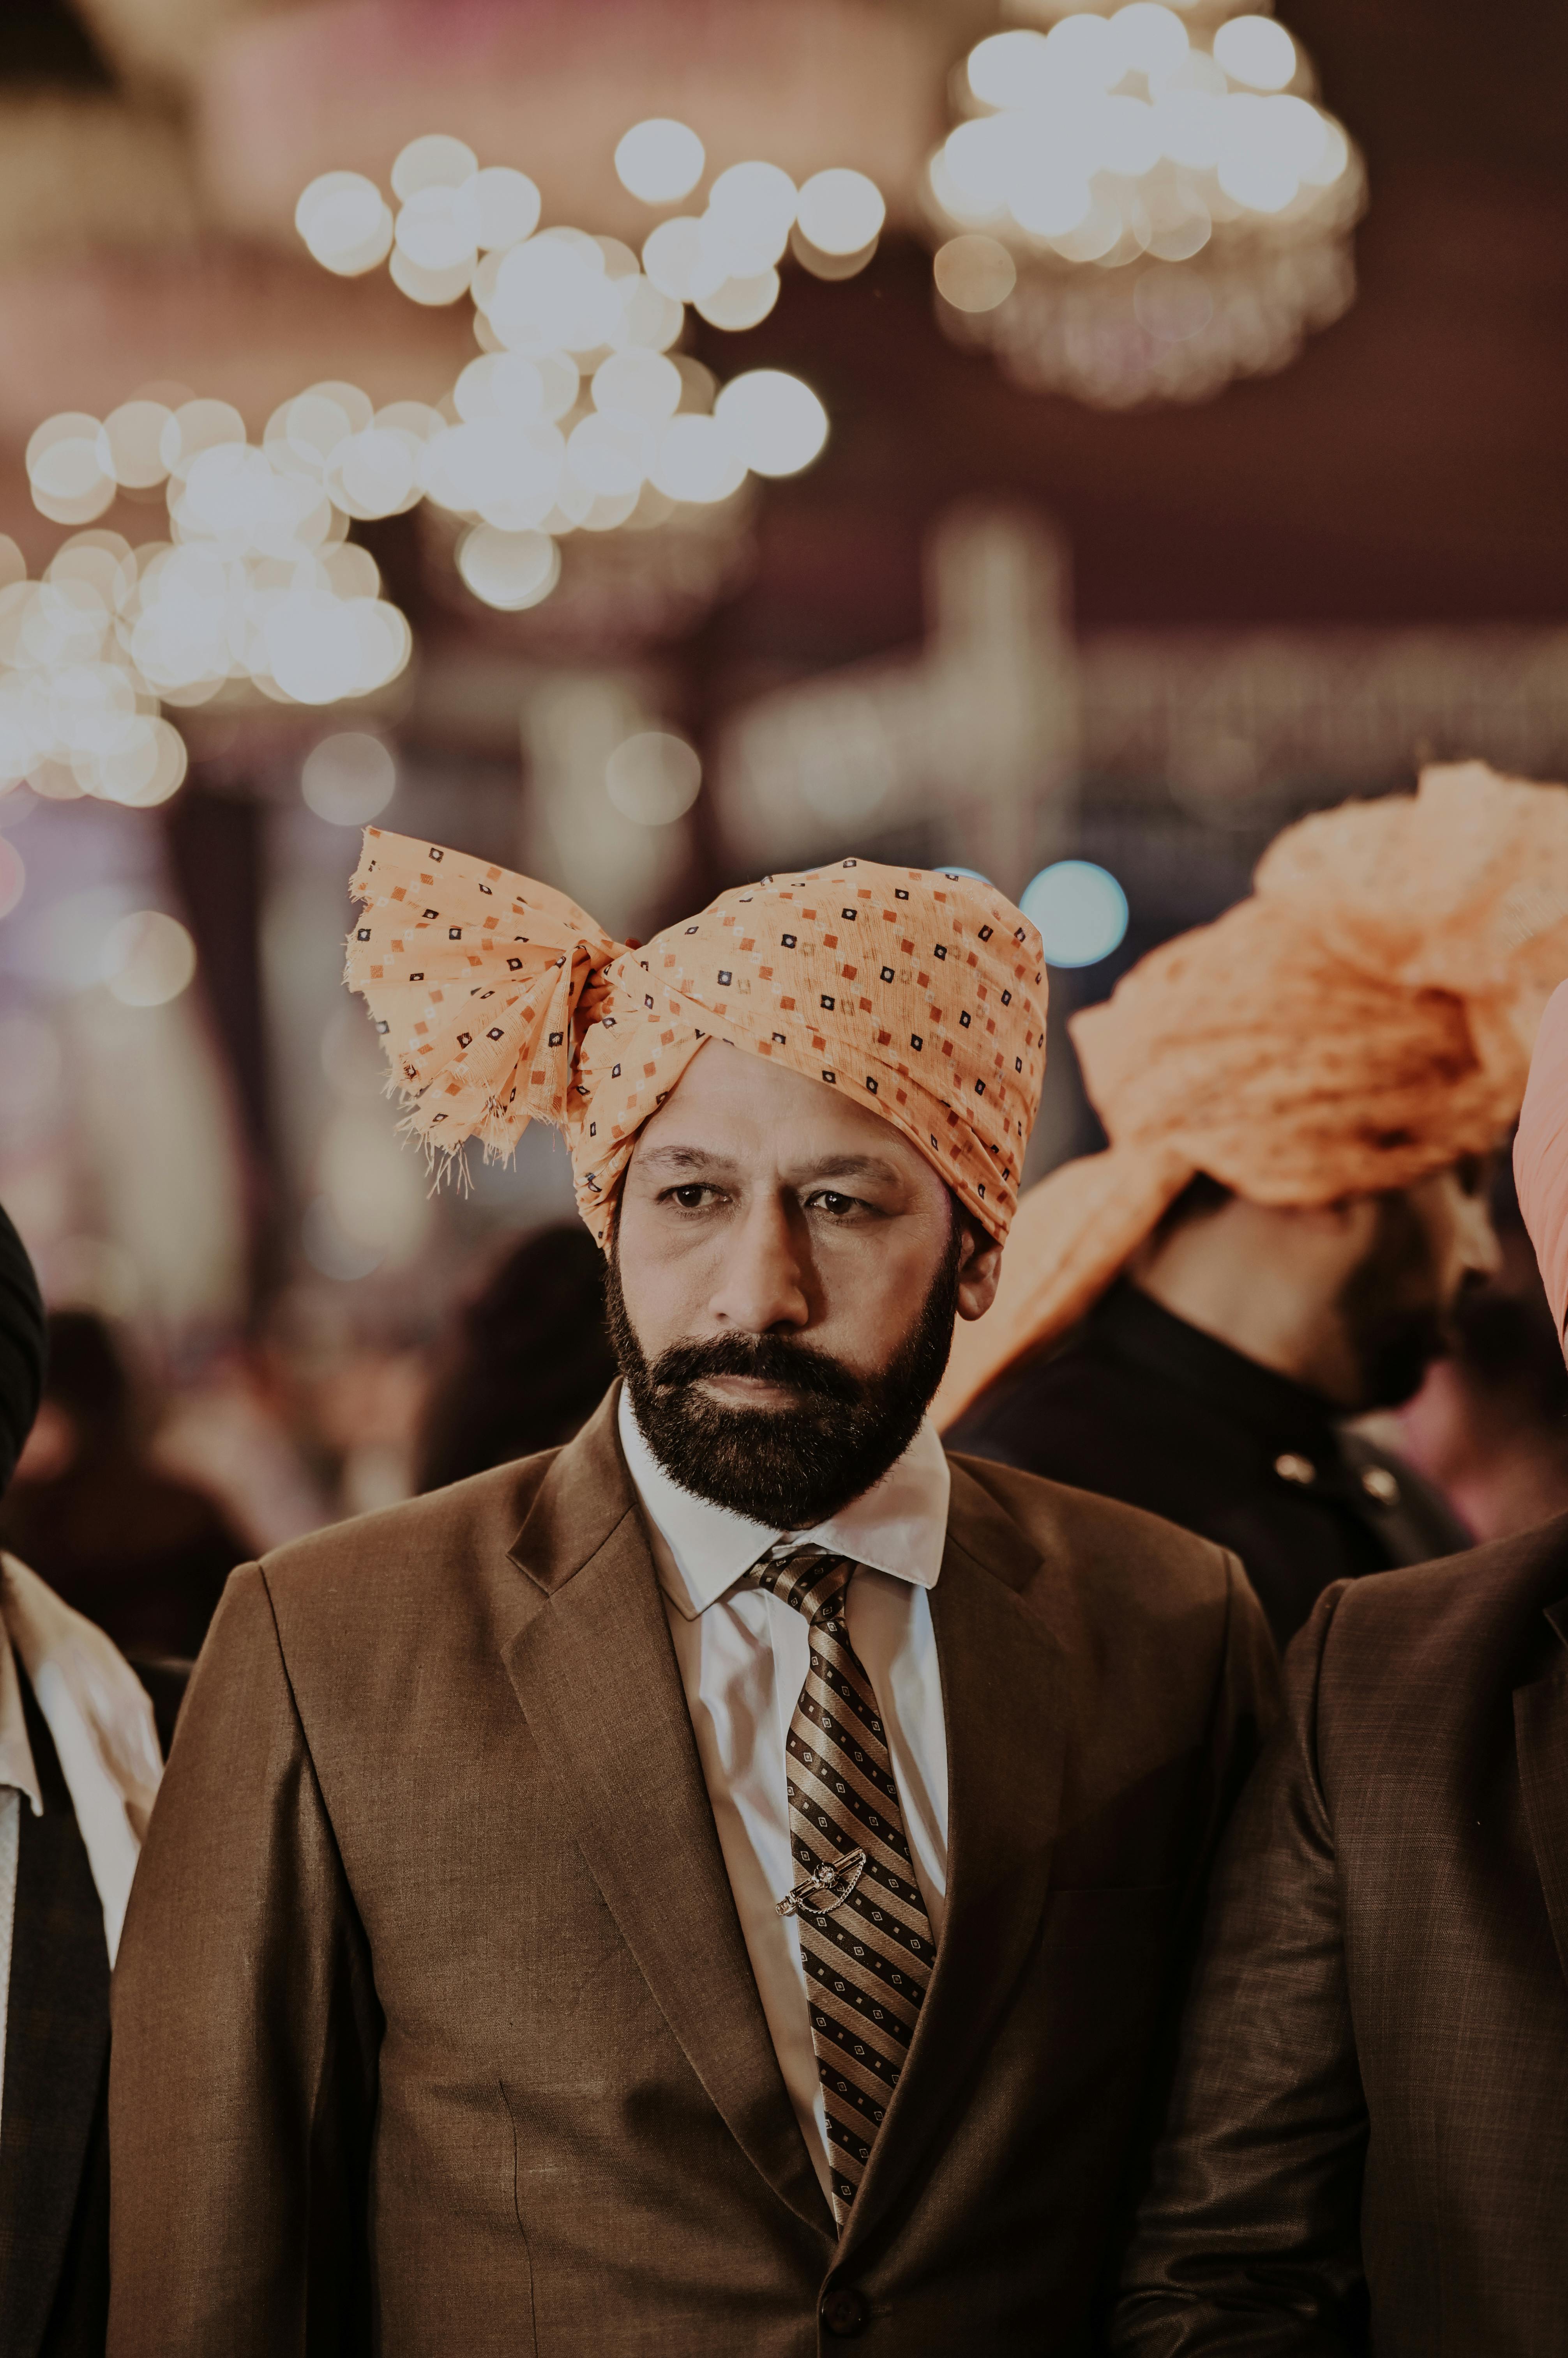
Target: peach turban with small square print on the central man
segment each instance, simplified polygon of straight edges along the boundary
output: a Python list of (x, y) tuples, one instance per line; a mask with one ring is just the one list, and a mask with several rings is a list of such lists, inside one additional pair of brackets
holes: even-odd
[(719, 894), (641, 948), (462, 851), (365, 828), (344, 981), (406, 1127), (455, 1153), (566, 1132), (604, 1245), (632, 1144), (705, 1040), (844, 1089), (1007, 1236), (1045, 1078), (1045, 955), (990, 884), (839, 861)]

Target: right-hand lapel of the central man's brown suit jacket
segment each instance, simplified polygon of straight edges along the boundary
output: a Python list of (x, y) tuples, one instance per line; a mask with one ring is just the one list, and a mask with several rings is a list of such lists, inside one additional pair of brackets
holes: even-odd
[(1019, 1594), (1037, 1570), (1040, 1556), (1016, 1523), (953, 1464), (948, 1549), (931, 1589), (948, 1724), (948, 1915), (844, 2254), (887, 2217), (962, 2108), (1045, 1915), (1066, 1750), (1066, 1658)]

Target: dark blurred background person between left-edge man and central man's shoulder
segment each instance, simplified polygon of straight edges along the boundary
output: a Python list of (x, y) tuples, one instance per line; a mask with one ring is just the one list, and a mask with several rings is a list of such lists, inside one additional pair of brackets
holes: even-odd
[(137, 1389), (97, 1311), (54, 1311), (38, 1422), (0, 1537), (137, 1660), (193, 1662), (250, 1547), (149, 1455)]

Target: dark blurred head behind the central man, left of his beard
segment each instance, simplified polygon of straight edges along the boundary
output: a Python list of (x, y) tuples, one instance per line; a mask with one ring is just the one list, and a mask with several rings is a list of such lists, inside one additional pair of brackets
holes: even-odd
[(604, 1254), (580, 1221), (509, 1245), (436, 1349), (417, 1488), (559, 1448), (615, 1375)]

